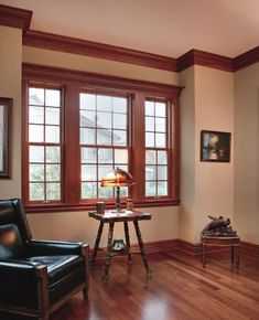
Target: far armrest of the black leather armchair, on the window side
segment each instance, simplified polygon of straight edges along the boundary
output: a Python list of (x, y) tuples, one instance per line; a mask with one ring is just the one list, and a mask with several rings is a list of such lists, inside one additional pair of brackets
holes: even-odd
[(31, 256), (84, 255), (85, 247), (83, 243), (31, 239), (26, 243), (26, 253)]

